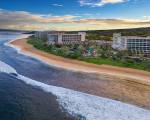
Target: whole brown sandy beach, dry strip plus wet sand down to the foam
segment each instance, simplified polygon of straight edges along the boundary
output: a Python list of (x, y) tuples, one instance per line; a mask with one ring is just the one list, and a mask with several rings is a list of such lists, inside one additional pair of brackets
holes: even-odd
[[(82, 61), (70, 60), (42, 52), (27, 44), (27, 39), (13, 40), (11, 45), (20, 48), (21, 52), (37, 58), (47, 64), (78, 72), (94, 73), (98, 77), (84, 80), (62, 78), (56, 85), (69, 89), (102, 96), (139, 107), (150, 109), (150, 73), (130, 68), (108, 65), (95, 65)], [(87, 74), (88, 75), (88, 74)]]

